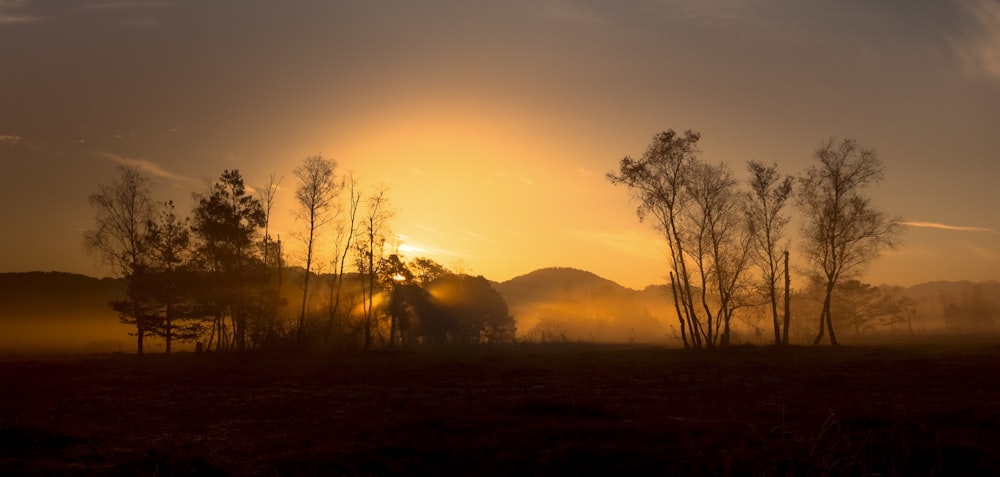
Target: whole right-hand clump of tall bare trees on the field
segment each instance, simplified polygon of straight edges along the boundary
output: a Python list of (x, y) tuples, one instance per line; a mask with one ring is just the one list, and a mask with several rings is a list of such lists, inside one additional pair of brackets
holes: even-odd
[(738, 310), (762, 304), (770, 310), (774, 343), (788, 343), (791, 244), (785, 229), (791, 199), (802, 213), (799, 248), (805, 268), (825, 290), (814, 343), (828, 333), (837, 345), (834, 291), (893, 246), (900, 232), (898, 221), (875, 209), (864, 194), (883, 177), (874, 150), (851, 139), (829, 139), (797, 180), (776, 165), (751, 161), (742, 184), (727, 164), (699, 157), (700, 139), (690, 130), (659, 133), (640, 158), (626, 156), (618, 172), (607, 175), (628, 188), (639, 220), (652, 221), (667, 242), (684, 346), (730, 344)]

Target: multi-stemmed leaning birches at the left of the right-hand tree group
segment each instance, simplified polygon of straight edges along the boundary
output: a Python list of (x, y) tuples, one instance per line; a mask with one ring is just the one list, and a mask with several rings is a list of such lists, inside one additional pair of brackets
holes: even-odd
[(693, 131), (657, 134), (642, 158), (625, 157), (619, 174), (607, 176), (629, 188), (639, 220), (653, 217), (667, 239), (681, 339), (694, 348), (729, 343), (750, 243), (736, 181), (724, 165), (698, 159), (700, 138)]

